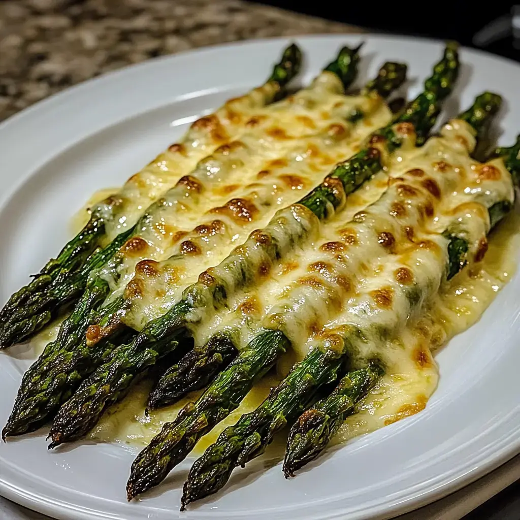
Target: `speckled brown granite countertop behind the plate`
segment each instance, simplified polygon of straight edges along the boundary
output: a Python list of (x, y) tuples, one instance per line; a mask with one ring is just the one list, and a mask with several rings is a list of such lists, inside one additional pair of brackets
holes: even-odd
[(204, 45), (359, 32), (240, 0), (0, 1), (0, 120), (90, 77)]

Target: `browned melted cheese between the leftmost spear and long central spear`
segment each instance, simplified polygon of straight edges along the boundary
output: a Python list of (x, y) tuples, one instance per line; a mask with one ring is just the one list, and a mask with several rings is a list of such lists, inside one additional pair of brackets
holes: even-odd
[[(303, 197), (390, 120), (375, 95), (344, 96), (329, 88), (323, 98), (323, 84), (337, 89), (334, 77), (322, 74), (315, 82), (317, 92), (310, 87), (269, 107), (280, 114), (283, 126), (269, 123), (262, 133), (245, 133), (218, 148), (151, 206), (135, 235), (97, 275), (113, 291), (108, 302), (124, 292), (126, 302), (116, 320), (139, 330), (164, 314), (201, 271), (226, 258), (253, 229), (266, 226), (280, 207)], [(359, 107), (369, 119), (346, 122), (346, 115)], [(304, 134), (303, 112), (307, 126), (312, 123)]]

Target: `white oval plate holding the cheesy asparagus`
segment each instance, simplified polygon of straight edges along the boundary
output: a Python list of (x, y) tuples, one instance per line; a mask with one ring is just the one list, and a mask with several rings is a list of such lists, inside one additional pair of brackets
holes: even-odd
[[(418, 79), (443, 44), (417, 38), (297, 38), (308, 82), (344, 43), (366, 41), (359, 81), (388, 59)], [(70, 237), (69, 216), (96, 189), (117, 186), (171, 144), (197, 115), (265, 80), (288, 40), (239, 43), (155, 59), (88, 81), (0, 126), (0, 301), (27, 282)], [(503, 144), (520, 131), (520, 66), (472, 50), (450, 114), (485, 89), (502, 94)], [(520, 277), (469, 331), (438, 356), (441, 379), (426, 410), (357, 438), (309, 464), (297, 478), (259, 461), (233, 473), (214, 497), (178, 512), (190, 461), (138, 502), (125, 501), (134, 454), (119, 445), (46, 450), (45, 434), (0, 446), (0, 493), (63, 519), (388, 518), (469, 484), (520, 452)], [(0, 423), (9, 415), (27, 348), (0, 355)]]

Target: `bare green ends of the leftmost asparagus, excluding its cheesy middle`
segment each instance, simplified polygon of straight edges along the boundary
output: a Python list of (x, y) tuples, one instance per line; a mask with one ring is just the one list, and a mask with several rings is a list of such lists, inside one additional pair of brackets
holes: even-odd
[[(358, 60), (357, 52), (352, 53), (345, 48), (341, 59), (344, 62), (344, 75), (341, 77), (348, 81), (346, 75), (349, 73), (349, 67), (346, 66), (346, 62), (348, 59)], [(275, 65), (266, 82), (271, 88), (266, 89), (261, 105), (283, 96), (285, 86), (300, 70), (301, 61), (301, 51), (296, 45), (292, 44), (285, 49), (281, 61)], [(188, 133), (187, 138), (189, 136)], [(114, 203), (114, 200), (107, 199), (96, 205), (82, 231), (34, 276), (31, 283), (9, 298), (0, 311), (0, 348), (29, 339), (49, 320), (56, 317), (64, 305), (81, 296), (89, 272), (84, 267), (89, 263), (103, 263), (107, 259), (103, 252), (96, 253), (96, 248), (106, 237), (107, 223), (117, 217), (118, 203)], [(91, 258), (92, 256), (94, 258)]]

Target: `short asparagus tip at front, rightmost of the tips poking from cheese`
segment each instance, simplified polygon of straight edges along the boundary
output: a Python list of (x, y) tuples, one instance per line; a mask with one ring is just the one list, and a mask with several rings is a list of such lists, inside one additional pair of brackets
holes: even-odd
[(319, 400), (300, 415), (293, 424), (287, 441), (283, 463), (286, 478), (293, 477), (296, 470), (318, 457), (343, 421), (355, 411), (358, 402), (367, 396), (383, 373), (380, 363), (349, 372), (329, 397)]

